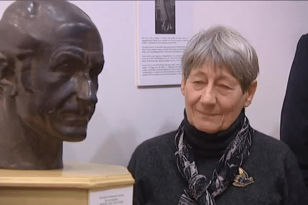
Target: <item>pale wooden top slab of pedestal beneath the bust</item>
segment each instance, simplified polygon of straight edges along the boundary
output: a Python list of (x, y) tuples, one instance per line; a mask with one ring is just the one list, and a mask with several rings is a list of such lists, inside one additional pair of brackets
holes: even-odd
[(0, 169), (0, 187), (96, 189), (133, 182), (125, 167), (95, 163), (64, 162), (59, 170)]

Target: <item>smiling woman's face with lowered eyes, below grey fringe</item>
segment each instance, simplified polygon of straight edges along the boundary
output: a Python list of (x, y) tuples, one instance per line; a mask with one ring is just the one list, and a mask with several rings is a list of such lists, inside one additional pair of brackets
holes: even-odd
[(192, 69), (186, 82), (182, 77), (181, 85), (188, 122), (206, 133), (226, 130), (243, 107), (251, 104), (256, 88), (257, 81), (253, 81), (243, 93), (238, 79), (225, 67), (204, 64)]

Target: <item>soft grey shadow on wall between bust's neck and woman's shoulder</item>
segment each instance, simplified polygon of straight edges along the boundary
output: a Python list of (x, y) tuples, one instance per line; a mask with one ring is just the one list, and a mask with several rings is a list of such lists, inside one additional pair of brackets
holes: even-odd
[(90, 162), (127, 167), (131, 154), (136, 149), (137, 135), (136, 128), (132, 126), (112, 132)]

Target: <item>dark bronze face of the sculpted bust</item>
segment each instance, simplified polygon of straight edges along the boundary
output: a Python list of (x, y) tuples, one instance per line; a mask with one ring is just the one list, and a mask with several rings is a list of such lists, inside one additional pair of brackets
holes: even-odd
[(42, 137), (81, 141), (97, 103), (104, 56), (96, 28), (66, 31), (39, 45), (29, 57), (26, 77), (25, 71), (16, 74), (16, 108), (24, 124)]

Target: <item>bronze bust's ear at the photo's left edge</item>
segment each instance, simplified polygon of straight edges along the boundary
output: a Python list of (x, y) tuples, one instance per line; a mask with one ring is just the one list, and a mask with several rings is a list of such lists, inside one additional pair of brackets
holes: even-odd
[(0, 96), (16, 94), (14, 71), (10, 68), (7, 57), (0, 52)]

